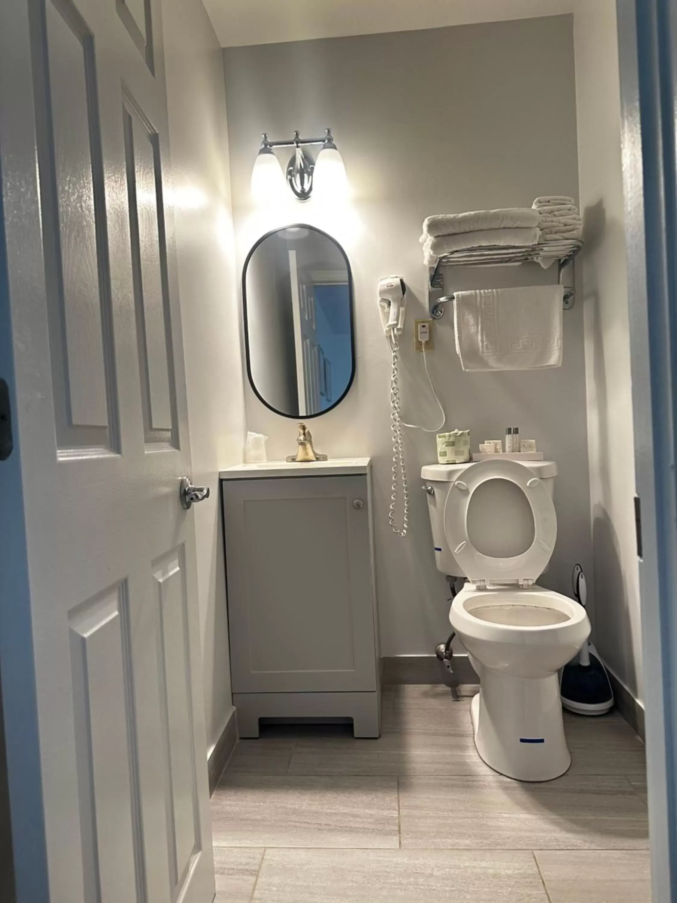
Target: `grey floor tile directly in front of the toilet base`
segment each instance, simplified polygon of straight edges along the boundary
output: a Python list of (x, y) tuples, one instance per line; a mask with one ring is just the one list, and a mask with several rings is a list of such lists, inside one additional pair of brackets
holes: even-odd
[[(441, 817), (444, 813), (445, 817)], [(625, 777), (401, 777), (402, 846), (646, 848), (646, 806)]]

